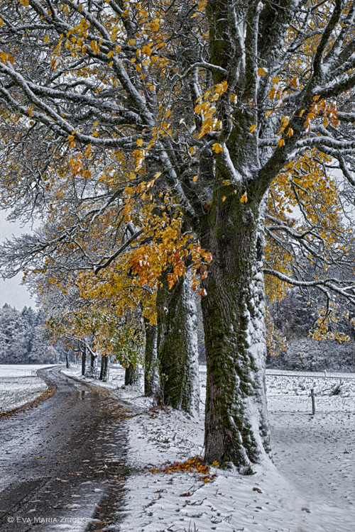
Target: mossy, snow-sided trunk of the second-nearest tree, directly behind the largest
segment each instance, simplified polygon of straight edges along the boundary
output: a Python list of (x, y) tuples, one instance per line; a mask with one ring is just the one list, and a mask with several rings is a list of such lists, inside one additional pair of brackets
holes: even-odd
[(168, 289), (168, 274), (160, 277), (157, 294), (160, 399), (188, 414), (199, 414), (200, 381), (195, 296), (189, 276)]

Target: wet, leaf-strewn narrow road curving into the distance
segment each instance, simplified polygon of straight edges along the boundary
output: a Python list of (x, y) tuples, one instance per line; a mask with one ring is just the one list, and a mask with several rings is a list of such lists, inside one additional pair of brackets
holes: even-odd
[(0, 419), (0, 531), (99, 531), (119, 515), (126, 406), (60, 368), (38, 375), (53, 397)]

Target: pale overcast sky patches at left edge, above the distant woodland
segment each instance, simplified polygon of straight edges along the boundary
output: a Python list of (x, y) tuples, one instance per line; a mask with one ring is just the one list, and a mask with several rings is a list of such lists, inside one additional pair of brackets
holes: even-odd
[[(13, 223), (6, 220), (7, 214), (0, 211), (0, 242), (12, 235), (19, 236), (22, 233), (30, 233), (31, 226), (21, 228), (21, 223)], [(23, 309), (24, 306), (35, 307), (34, 299), (31, 299), (26, 287), (21, 286), (22, 275), (18, 274), (13, 279), (2, 279), (0, 277), (0, 306), (9, 303), (16, 306), (16, 309)]]

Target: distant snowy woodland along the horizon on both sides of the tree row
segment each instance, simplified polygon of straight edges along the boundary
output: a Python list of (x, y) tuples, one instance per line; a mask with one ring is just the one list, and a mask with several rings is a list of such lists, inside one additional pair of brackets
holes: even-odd
[[(355, 330), (349, 312), (339, 316), (337, 330), (349, 341), (334, 338), (315, 340), (312, 330), (320, 314), (317, 301), (290, 289), (281, 301), (268, 304), (273, 326), (273, 345), (268, 347), (267, 367), (305, 371), (355, 371)], [(271, 331), (269, 331), (269, 335)], [(206, 363), (200, 298), (197, 298), (197, 338), (200, 364)], [(53, 341), (45, 325), (45, 314), (25, 306), (18, 311), (9, 304), (0, 308), (0, 364), (45, 364), (72, 362), (80, 351), (60, 340)], [(101, 359), (101, 357), (99, 357)]]

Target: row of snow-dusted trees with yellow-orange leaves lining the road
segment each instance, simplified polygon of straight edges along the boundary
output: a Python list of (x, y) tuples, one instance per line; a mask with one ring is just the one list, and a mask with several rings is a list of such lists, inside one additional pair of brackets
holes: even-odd
[(43, 217), (4, 243), (3, 275), (23, 270), (59, 335), (144, 356), (146, 393), (190, 414), (197, 290), (205, 460), (251, 472), (265, 293), (320, 292), (317, 338), (355, 302), (354, 2), (0, 6), (2, 206)]

